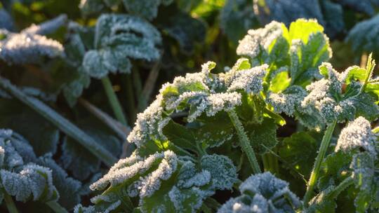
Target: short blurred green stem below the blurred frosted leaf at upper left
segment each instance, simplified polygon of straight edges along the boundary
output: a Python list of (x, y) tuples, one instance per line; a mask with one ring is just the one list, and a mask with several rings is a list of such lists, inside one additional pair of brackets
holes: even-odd
[(104, 86), (105, 93), (107, 94), (109, 104), (112, 107), (112, 110), (114, 112), (114, 116), (116, 116), (117, 120), (121, 122), (124, 125), (128, 125), (126, 123), (126, 118), (124, 115), (124, 112), (122, 111), (121, 104), (119, 102), (119, 99), (117, 99), (116, 93), (114, 93), (114, 90), (112, 88), (112, 83), (109, 80), (108, 76), (105, 76), (104, 78), (101, 78), (102, 85)]

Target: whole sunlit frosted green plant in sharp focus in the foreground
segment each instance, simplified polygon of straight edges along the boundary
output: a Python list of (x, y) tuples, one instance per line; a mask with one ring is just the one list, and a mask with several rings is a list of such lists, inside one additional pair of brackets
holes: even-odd
[[(354, 200), (357, 212), (377, 210), (371, 57), (365, 69), (338, 73), (326, 62), (328, 38), (314, 20), (251, 30), (237, 54), (248, 58), (225, 72), (207, 62), (164, 84), (128, 135), (137, 149), (90, 186), (102, 191), (93, 205), (75, 212), (211, 212), (220, 191), (240, 195), (218, 212), (334, 212), (340, 196)], [(278, 179), (286, 177), (278, 167), (283, 152), (274, 151), (278, 125), (285, 125), (278, 113), (324, 134), (310, 174), (301, 174), (309, 177), (305, 194)], [(331, 146), (336, 124), (346, 122)]]

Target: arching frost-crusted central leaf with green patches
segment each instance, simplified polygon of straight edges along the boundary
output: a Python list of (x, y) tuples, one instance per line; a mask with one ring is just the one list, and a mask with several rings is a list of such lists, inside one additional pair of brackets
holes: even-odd
[(207, 62), (201, 72), (179, 76), (173, 83), (165, 83), (154, 102), (138, 114), (128, 142), (140, 147), (150, 139), (165, 140), (162, 130), (171, 120), (167, 115), (173, 111), (189, 109), (187, 122), (191, 123), (203, 113), (215, 116), (220, 111), (230, 111), (241, 105), (241, 92), (259, 94), (262, 90), (265, 64), (251, 68), (247, 59), (241, 59), (230, 71), (211, 74), (214, 67), (214, 62)]

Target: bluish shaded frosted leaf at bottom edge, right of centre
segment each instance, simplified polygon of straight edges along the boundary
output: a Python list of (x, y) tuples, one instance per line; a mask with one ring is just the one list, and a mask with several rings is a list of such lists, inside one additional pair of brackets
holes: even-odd
[(288, 183), (270, 172), (248, 177), (239, 190), (241, 195), (225, 202), (218, 213), (296, 212), (301, 206), (301, 201), (290, 191)]

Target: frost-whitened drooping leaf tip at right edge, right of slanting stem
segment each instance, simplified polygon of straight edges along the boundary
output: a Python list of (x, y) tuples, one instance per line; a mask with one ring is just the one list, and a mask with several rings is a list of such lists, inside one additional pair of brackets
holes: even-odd
[(363, 148), (376, 158), (375, 137), (371, 132), (370, 122), (359, 117), (347, 124), (340, 133), (335, 151), (349, 152), (353, 149)]

